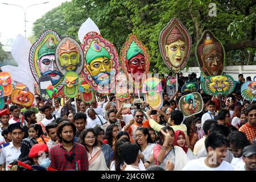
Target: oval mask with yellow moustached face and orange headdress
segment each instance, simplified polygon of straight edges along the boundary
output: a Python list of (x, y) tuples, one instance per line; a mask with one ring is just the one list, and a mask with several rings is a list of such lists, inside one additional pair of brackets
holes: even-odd
[(84, 52), (75, 39), (66, 37), (60, 40), (55, 57), (57, 68), (63, 75), (70, 71), (79, 75), (84, 67)]

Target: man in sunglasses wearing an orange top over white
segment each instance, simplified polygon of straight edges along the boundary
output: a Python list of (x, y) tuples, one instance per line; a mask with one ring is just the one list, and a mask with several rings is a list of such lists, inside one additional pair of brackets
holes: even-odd
[(144, 114), (142, 110), (135, 110), (134, 111), (134, 119), (131, 119), (128, 125), (124, 126), (122, 131), (128, 131), (130, 135), (131, 143), (135, 142), (135, 132), (138, 127), (150, 127), (148, 120), (144, 121)]

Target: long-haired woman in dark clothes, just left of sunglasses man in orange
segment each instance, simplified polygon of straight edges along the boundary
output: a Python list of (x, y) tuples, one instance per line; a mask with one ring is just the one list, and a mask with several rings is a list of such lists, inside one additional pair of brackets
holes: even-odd
[(114, 150), (115, 142), (117, 140), (117, 135), (118, 135), (118, 126), (115, 124), (110, 124), (106, 128), (106, 135), (105, 135), (105, 140), (103, 143), (109, 144), (110, 147), (112, 147), (112, 150)]

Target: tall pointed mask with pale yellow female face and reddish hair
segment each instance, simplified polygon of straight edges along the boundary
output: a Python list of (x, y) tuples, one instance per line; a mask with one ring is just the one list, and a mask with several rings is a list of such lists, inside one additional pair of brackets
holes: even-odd
[(162, 30), (159, 48), (164, 63), (172, 72), (178, 73), (188, 61), (191, 49), (191, 36), (177, 18), (172, 18)]

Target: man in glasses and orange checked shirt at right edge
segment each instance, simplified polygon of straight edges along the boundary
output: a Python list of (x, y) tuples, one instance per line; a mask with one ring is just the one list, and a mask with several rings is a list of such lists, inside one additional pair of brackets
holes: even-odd
[(248, 117), (248, 122), (241, 126), (239, 131), (242, 131), (252, 144), (253, 139), (256, 137), (256, 105), (250, 105), (246, 109), (245, 115)]

